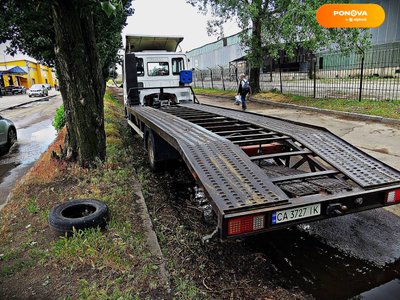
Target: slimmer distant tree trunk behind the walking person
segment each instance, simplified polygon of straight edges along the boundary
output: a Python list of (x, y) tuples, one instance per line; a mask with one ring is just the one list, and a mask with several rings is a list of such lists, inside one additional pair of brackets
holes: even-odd
[(261, 47), (261, 21), (257, 18), (253, 20), (251, 36), (252, 55), (250, 58), (250, 86), (253, 93), (259, 93), (260, 89), (260, 67), (263, 62)]

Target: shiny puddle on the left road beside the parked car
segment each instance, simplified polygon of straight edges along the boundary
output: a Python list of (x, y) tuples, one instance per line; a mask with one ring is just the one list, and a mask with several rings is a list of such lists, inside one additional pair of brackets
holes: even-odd
[(17, 133), (17, 144), (9, 153), (0, 156), (0, 209), (14, 184), (26, 174), (56, 137), (50, 119), (17, 129)]

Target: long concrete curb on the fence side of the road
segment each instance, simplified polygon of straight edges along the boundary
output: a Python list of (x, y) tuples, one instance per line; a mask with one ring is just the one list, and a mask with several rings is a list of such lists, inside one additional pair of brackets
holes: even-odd
[[(214, 96), (214, 95), (210, 96), (210, 95), (207, 95), (207, 94), (198, 94), (198, 95), (208, 96), (208, 97), (215, 97), (215, 98), (222, 98), (222, 99), (229, 99), (229, 100), (231, 99), (231, 97), (229, 97), (229, 96)], [(268, 105), (271, 105), (271, 106), (282, 107), (282, 108), (297, 109), (297, 110), (304, 110), (304, 111), (313, 111), (313, 112), (318, 112), (318, 113), (326, 114), (326, 115), (336, 115), (336, 116), (339, 116), (339, 117), (353, 118), (353, 119), (361, 120), (361, 121), (373, 121), (373, 122), (381, 122), (381, 123), (390, 124), (390, 125), (400, 125), (400, 120), (391, 119), (391, 118), (384, 118), (384, 117), (379, 117), (379, 116), (370, 116), (370, 115), (350, 113), (350, 112), (345, 112), (345, 111), (338, 111), (338, 110), (330, 110), (330, 109), (324, 109), (324, 108), (302, 106), (302, 105), (296, 105), (296, 104), (291, 104), (291, 103), (275, 102), (275, 101), (266, 100), (266, 99), (259, 99), (259, 98), (251, 98), (249, 101), (250, 102), (256, 102), (256, 103), (261, 103), (261, 104), (268, 104)]]

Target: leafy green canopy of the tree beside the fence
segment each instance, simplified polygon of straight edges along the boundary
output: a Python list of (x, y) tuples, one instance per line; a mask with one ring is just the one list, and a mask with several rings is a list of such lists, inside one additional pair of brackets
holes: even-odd
[[(253, 67), (261, 67), (264, 55), (276, 58), (279, 50), (293, 57), (299, 46), (310, 52), (332, 48), (363, 51), (369, 46), (367, 30), (353, 28), (324, 28), (315, 14), (326, 3), (346, 3), (347, 0), (186, 0), (203, 12), (211, 7), (215, 19), (209, 25), (221, 28), (228, 19), (236, 18), (242, 29), (241, 40), (247, 47), (248, 59)], [(218, 30), (217, 30), (218, 32)]]

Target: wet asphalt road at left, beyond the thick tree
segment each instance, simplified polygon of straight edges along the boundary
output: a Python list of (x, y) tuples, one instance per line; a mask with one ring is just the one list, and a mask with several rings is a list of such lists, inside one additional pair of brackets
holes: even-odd
[[(0, 98), (0, 102), (4, 101), (3, 105), (12, 106), (31, 99), (35, 98), (15, 95)], [(0, 209), (15, 183), (54, 140), (56, 131), (51, 123), (55, 110), (60, 105), (61, 97), (56, 96), (48, 101), (39, 101), (1, 112), (3, 117), (12, 120), (17, 127), (18, 142), (8, 153), (1, 153), (0, 156)]]

